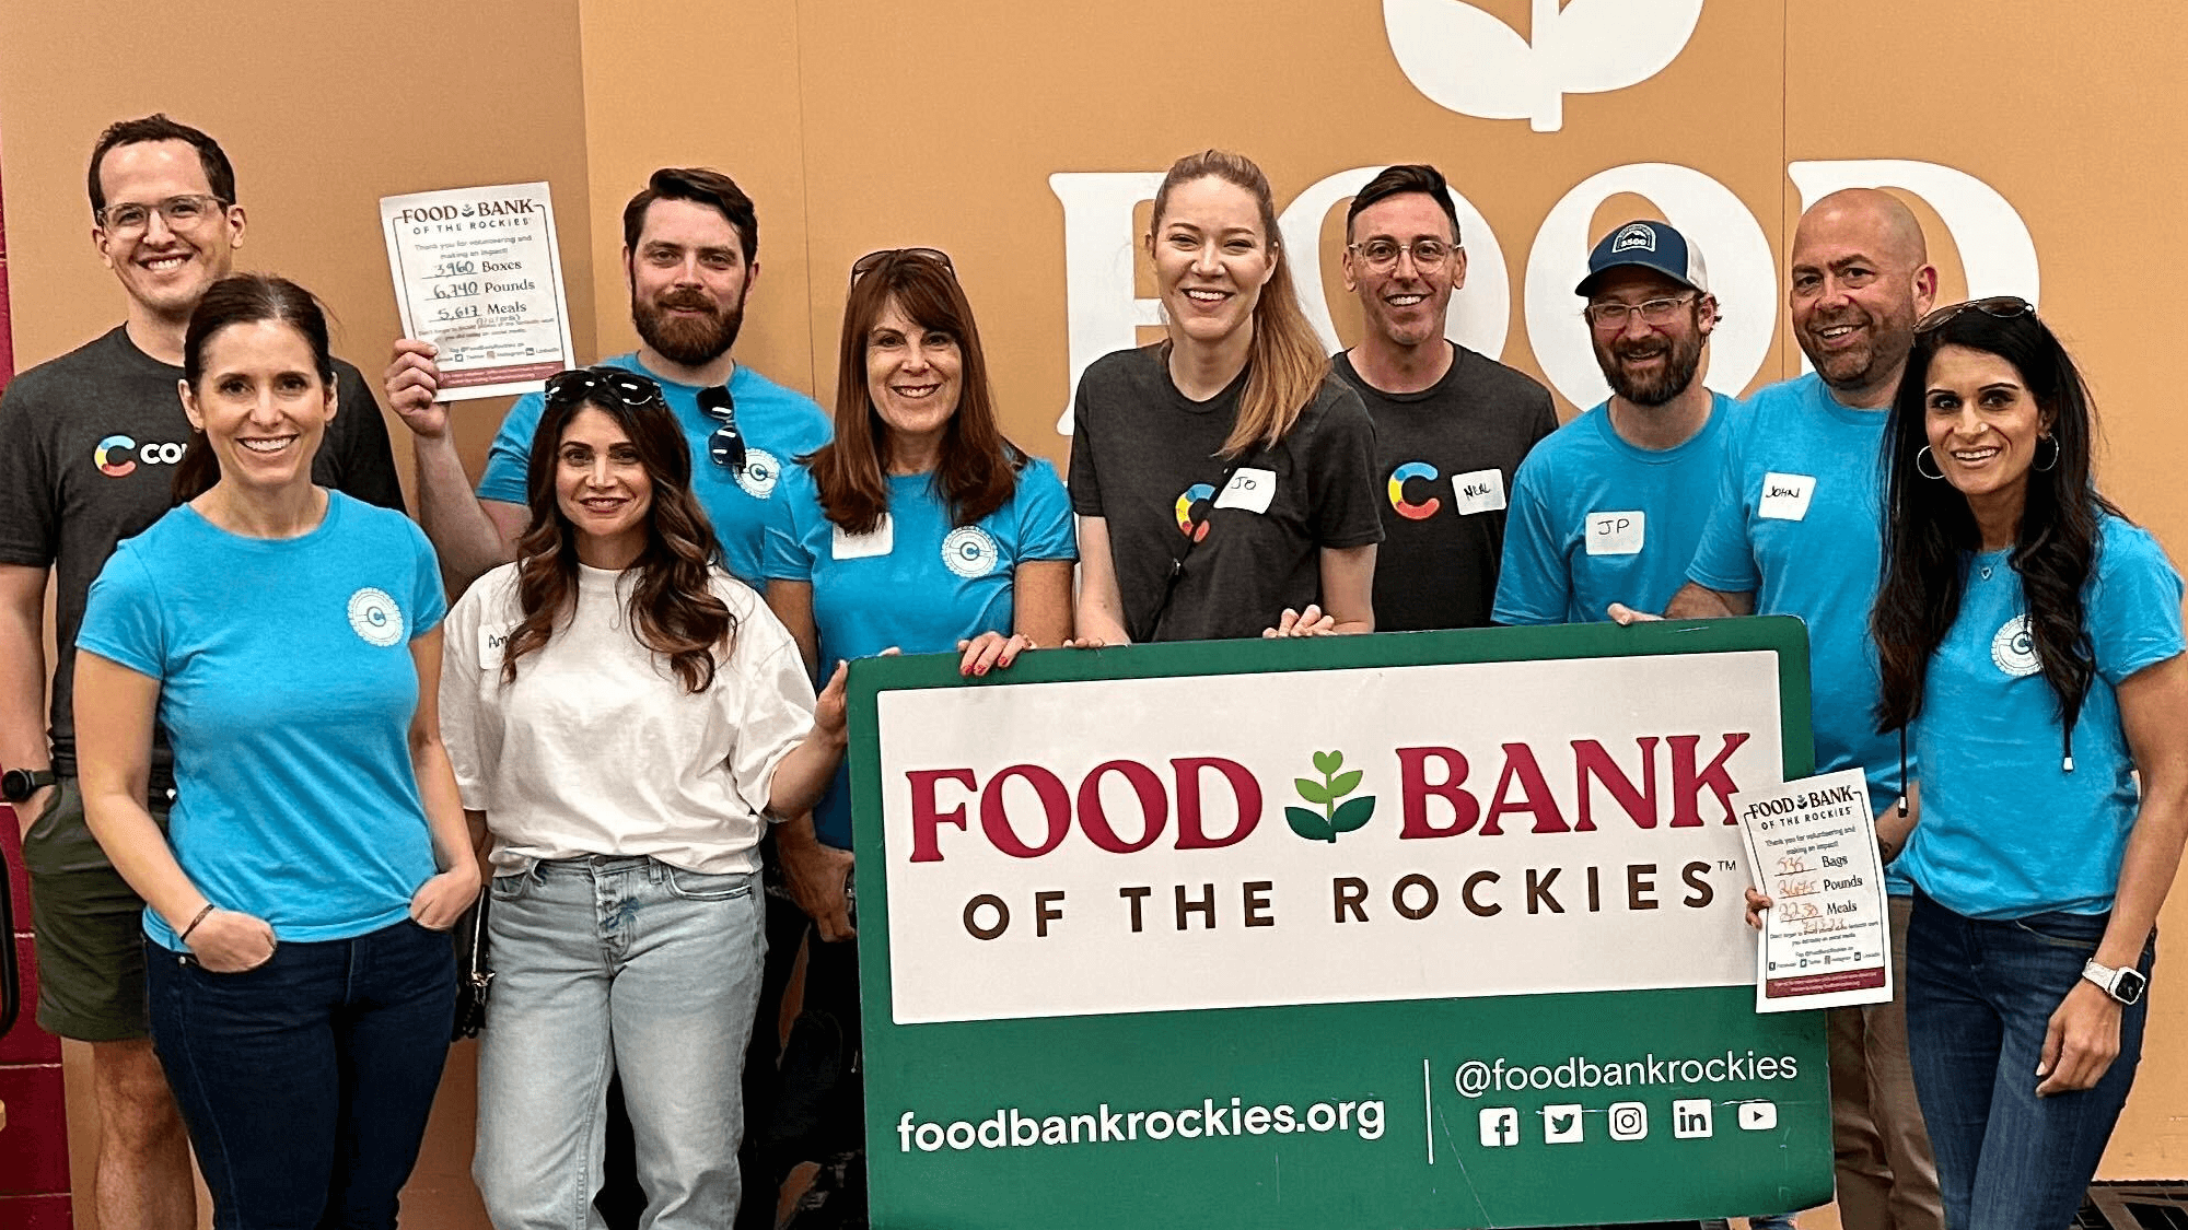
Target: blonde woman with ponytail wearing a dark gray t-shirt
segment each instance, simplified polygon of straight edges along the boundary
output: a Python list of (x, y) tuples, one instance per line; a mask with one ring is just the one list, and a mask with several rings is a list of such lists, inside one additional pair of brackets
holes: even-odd
[(1147, 250), (1168, 337), (1087, 368), (1072, 416), (1079, 637), (1372, 633), (1374, 427), (1300, 311), (1269, 177), (1177, 160)]

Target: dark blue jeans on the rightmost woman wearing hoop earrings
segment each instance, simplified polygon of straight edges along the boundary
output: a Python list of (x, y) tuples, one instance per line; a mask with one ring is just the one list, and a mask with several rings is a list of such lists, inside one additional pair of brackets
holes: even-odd
[[(2120, 1016), (2120, 1057), (2096, 1088), (2037, 1096), (2052, 1011), (2096, 954), (2109, 915), (1978, 921), (1915, 895), (1908, 1042), (1950, 1230), (2061, 1230), (2127, 1103), (2149, 998)], [(2157, 937), (2142, 950), (2142, 974)]]

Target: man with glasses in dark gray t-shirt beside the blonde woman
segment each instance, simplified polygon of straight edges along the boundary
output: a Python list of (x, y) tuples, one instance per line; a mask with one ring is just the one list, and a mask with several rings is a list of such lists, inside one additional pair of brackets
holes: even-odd
[(1374, 569), (1378, 630), (1490, 622), (1505, 492), (1521, 457), (1558, 429), (1549, 390), (1444, 339), (1466, 285), (1459, 212), (1433, 166), (1392, 166), (1346, 210), (1346, 289), (1368, 333), (1330, 359), (1376, 427), (1387, 497)]

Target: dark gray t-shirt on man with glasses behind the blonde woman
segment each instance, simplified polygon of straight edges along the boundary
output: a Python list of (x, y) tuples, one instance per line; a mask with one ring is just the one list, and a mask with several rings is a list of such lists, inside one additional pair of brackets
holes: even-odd
[(1370, 387), (1350, 352), (1330, 359), (1374, 420), (1385, 534), (1374, 558), (1378, 633), (1488, 626), (1512, 473), (1558, 429), (1549, 390), (1532, 376), (1451, 350), (1451, 370), (1418, 394)]

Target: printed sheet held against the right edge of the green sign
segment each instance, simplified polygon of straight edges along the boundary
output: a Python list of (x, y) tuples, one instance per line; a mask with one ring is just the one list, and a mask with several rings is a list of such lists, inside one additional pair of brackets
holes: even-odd
[(1755, 950), (1755, 1011), (1893, 998), (1890, 915), (1860, 768), (1737, 794), (1755, 886), (1770, 897)]

